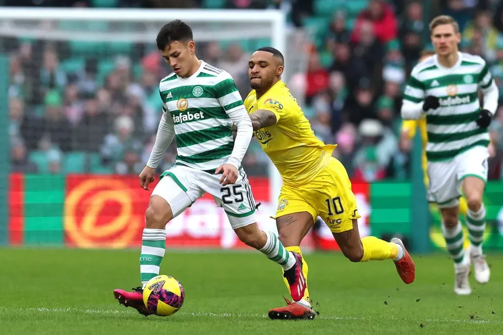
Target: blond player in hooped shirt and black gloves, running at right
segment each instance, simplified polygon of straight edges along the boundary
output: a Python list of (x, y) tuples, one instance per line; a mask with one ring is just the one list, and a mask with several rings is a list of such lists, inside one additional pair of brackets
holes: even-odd
[[(447, 250), (454, 260), (454, 291), (471, 293), (470, 263), (475, 280), (489, 281), (490, 271), (482, 254), (485, 208), (482, 195), (487, 180), (489, 134), (487, 127), (496, 111), (499, 92), (485, 61), (458, 51), (458, 24), (449, 16), (430, 23), (435, 55), (417, 64), (403, 96), (402, 118), (426, 116), (428, 144), (428, 200), (442, 213)], [(480, 107), (478, 89), (484, 104)], [(461, 190), (468, 204), (466, 225), (470, 249), (463, 250), (459, 221)]]

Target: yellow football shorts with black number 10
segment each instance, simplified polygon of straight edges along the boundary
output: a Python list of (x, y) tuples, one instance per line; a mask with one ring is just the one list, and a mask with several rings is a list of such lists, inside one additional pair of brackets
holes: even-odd
[(348, 172), (340, 161), (331, 158), (328, 165), (304, 185), (283, 184), (276, 217), (309, 212), (313, 221), (320, 216), (332, 233), (353, 228), (353, 219), (360, 218), (356, 197)]

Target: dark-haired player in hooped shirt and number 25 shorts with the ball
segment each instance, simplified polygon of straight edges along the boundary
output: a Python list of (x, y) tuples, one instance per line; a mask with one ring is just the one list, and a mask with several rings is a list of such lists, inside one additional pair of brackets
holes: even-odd
[[(180, 20), (163, 26), (157, 47), (173, 68), (159, 84), (163, 111), (155, 144), (140, 186), (149, 190), (154, 170), (172, 140), (176, 138), (175, 166), (165, 171), (152, 191), (145, 212), (140, 255), (142, 287), (132, 292), (116, 289), (119, 303), (149, 311), (143, 304), (144, 285), (159, 274), (166, 244), (165, 226), (205, 193), (225, 210), (238, 238), (278, 263), (292, 285), (292, 298), (300, 300), (305, 290), (301, 256), (286, 250), (275, 234), (259, 229), (255, 200), (241, 160), (253, 129), (232, 77), (199, 60), (191, 28)], [(233, 126), (237, 135), (233, 139)]]

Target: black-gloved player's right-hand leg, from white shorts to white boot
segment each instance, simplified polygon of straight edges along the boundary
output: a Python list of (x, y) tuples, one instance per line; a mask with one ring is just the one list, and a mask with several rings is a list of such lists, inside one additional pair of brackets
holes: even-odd
[(489, 266), (482, 253), (486, 214), (482, 196), (487, 180), (487, 157), (488, 152), (483, 147), (473, 148), (459, 157), (460, 179), (468, 205), (466, 226), (470, 238), (470, 258), (475, 279), (481, 284), (487, 283), (490, 277)]

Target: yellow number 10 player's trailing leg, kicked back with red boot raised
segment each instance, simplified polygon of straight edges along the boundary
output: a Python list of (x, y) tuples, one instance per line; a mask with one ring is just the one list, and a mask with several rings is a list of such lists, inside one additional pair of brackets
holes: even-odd
[(391, 259), (403, 282), (412, 283), (415, 278), (414, 263), (399, 239), (387, 242), (373, 236), (360, 238), (358, 218), (361, 216), (351, 190), (351, 181), (341, 162), (332, 159), (326, 174), (321, 180), (314, 181), (324, 183), (325, 190), (316, 203), (320, 216), (325, 218), (343, 254), (352, 262)]

